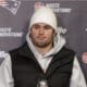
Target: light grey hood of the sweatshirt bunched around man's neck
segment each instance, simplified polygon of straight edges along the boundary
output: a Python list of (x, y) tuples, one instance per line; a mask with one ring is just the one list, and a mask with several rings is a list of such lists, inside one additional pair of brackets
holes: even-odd
[[(27, 41), (27, 45), (28, 47), (30, 48), (30, 50), (34, 52), (35, 57), (37, 58), (38, 55), (41, 57), (41, 54), (36, 50), (36, 48), (34, 47), (33, 42), (32, 42), (32, 39), (29, 38), (29, 33), (27, 33), (26, 35), (26, 41)], [(53, 55), (55, 54), (57, 52), (59, 52), (62, 47), (65, 45), (65, 39), (58, 33), (54, 37), (54, 41), (53, 41), (54, 46), (53, 48), (47, 52), (45, 54), (45, 57), (50, 57), (50, 55)]]

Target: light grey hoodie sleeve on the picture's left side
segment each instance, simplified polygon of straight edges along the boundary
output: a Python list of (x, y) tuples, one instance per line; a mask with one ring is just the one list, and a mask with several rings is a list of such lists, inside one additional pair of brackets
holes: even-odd
[(13, 87), (11, 58), (4, 53), (0, 63), (0, 87)]

